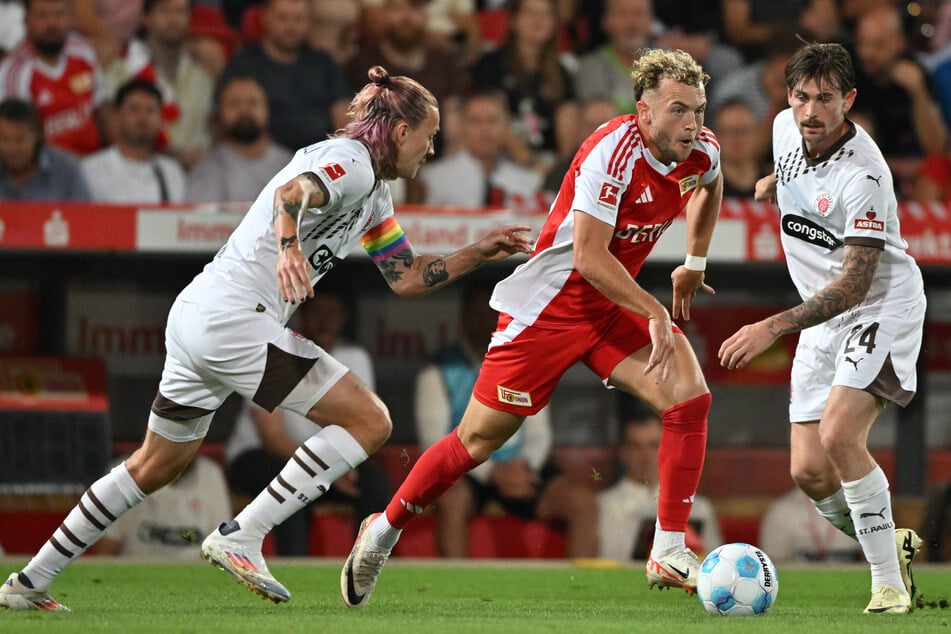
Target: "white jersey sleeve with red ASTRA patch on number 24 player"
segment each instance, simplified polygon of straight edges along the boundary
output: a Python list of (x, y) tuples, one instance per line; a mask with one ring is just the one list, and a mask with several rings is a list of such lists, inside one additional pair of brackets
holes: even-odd
[(888, 193), (891, 191), (891, 176), (887, 169), (883, 168), (880, 174), (869, 174), (867, 169), (856, 170), (843, 185), (843, 242), (884, 249)]

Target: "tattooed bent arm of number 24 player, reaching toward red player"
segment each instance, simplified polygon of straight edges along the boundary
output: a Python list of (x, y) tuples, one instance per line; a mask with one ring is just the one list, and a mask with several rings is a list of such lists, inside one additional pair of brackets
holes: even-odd
[(720, 346), (720, 365), (731, 370), (745, 367), (779, 337), (826, 322), (860, 303), (872, 286), (881, 255), (878, 247), (846, 245), (839, 277), (798, 306), (733, 333)]

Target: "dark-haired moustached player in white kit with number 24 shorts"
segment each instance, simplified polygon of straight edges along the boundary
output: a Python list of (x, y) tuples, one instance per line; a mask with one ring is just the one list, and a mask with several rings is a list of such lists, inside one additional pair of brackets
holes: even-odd
[(743, 326), (719, 357), (742, 368), (777, 338), (800, 333), (790, 385), (792, 477), (823, 517), (858, 539), (872, 572), (865, 612), (904, 614), (921, 541), (896, 530), (888, 480), (866, 439), (888, 401), (904, 406), (915, 394), (926, 302), (888, 165), (846, 117), (854, 86), (851, 57), (838, 44), (803, 46), (786, 65), (790, 108), (773, 123), (775, 171), (757, 183), (756, 196), (779, 205), (789, 274), (803, 301)]

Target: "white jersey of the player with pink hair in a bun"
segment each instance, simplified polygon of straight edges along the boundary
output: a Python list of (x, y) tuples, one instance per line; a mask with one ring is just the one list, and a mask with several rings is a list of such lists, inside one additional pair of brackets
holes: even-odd
[(300, 222), (311, 285), (353, 251), (363, 234), (393, 216), (389, 187), (376, 180), (362, 143), (345, 138), (315, 143), (298, 150), (271, 179), (228, 242), (180, 297), (236, 308), (258, 304), (258, 310), (276, 311), (281, 323), (287, 323), (297, 306), (281, 299), (277, 285), (274, 192), (305, 172), (316, 174), (329, 194), (323, 207), (309, 208)]

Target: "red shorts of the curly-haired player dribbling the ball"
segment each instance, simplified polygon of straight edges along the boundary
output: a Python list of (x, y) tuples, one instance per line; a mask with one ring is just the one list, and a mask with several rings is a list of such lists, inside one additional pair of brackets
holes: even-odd
[[(681, 332), (676, 325), (673, 331)], [(503, 313), (472, 394), (486, 407), (530, 416), (578, 361), (607, 381), (622, 359), (650, 343), (647, 318), (619, 307), (564, 330), (526, 326)]]

